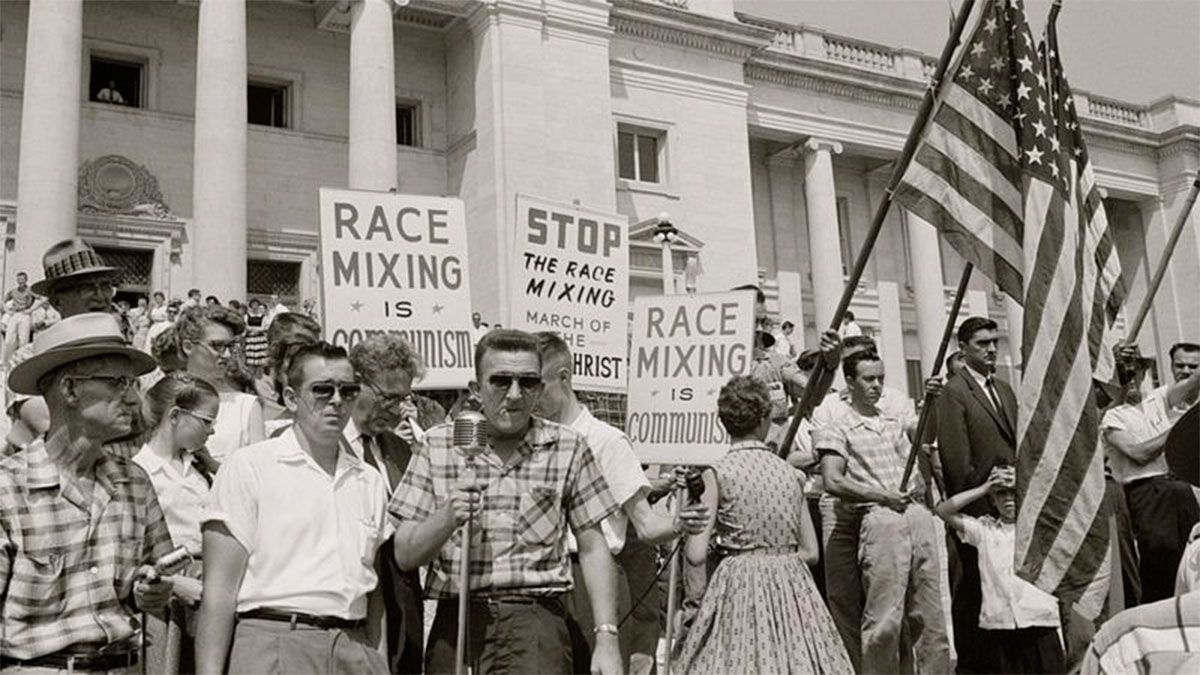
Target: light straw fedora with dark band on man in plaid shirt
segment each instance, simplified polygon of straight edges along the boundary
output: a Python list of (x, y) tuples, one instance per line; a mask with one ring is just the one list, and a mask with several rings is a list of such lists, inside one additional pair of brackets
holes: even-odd
[(8, 374), (8, 388), (18, 394), (40, 395), (37, 381), (47, 372), (78, 360), (102, 356), (128, 357), (133, 375), (157, 366), (154, 357), (125, 345), (116, 318), (106, 312), (86, 312), (64, 318), (34, 338), (34, 356)]

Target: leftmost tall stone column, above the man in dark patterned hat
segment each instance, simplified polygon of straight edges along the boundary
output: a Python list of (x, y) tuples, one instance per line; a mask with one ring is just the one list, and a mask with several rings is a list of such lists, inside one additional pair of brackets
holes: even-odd
[(42, 253), (76, 232), (83, 0), (30, 2), (8, 279), (42, 277)]

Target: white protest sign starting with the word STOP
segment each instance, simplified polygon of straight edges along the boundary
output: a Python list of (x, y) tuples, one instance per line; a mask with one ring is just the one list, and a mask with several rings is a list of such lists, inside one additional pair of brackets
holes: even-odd
[(624, 393), (629, 219), (517, 195), (516, 222), (512, 327), (562, 335), (576, 389)]

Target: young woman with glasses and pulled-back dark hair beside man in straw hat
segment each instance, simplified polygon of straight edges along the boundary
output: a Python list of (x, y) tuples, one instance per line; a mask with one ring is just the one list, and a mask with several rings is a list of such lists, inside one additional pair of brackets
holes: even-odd
[(150, 438), (133, 461), (150, 476), (170, 539), (194, 558), (175, 577), (167, 621), (146, 616), (146, 665), (151, 673), (192, 673), (188, 615), (200, 602), (200, 518), (216, 462), (204, 449), (221, 396), (212, 384), (186, 372), (163, 376), (143, 396)]

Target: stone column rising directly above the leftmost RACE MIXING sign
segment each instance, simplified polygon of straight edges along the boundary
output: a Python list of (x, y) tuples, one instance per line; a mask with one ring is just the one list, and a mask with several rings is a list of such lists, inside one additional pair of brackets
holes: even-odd
[(348, 185), (390, 190), (396, 180), (396, 47), (391, 0), (350, 5)]

